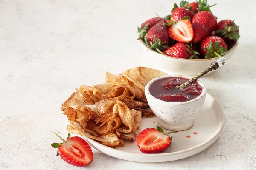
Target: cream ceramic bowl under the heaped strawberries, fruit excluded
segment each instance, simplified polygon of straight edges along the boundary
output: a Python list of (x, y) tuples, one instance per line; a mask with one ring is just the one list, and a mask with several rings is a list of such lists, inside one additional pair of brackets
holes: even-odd
[[(218, 59), (218, 57), (212, 59), (181, 59), (177, 57), (170, 57), (160, 54), (154, 50), (151, 50), (143, 41), (140, 40), (140, 44), (146, 53), (145, 62), (153, 68), (163, 68), (166, 71), (170, 71), (172, 74), (182, 74), (188, 76), (195, 76), (196, 74), (204, 71), (210, 64)], [(233, 56), (236, 48), (239, 44), (239, 40), (233, 45), (233, 47), (223, 57), (227, 61)], [(208, 74), (212, 74), (214, 71), (210, 71)]]

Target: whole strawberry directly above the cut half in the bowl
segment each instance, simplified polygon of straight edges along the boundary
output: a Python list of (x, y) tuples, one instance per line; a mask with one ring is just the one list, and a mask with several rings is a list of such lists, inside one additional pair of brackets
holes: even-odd
[(180, 7), (177, 6), (177, 4), (174, 4), (174, 8), (172, 9), (171, 18), (173, 18), (175, 21), (181, 20), (183, 17), (189, 17), (190, 20), (192, 20), (194, 14), (192, 11), (187, 9), (188, 2), (181, 1)]

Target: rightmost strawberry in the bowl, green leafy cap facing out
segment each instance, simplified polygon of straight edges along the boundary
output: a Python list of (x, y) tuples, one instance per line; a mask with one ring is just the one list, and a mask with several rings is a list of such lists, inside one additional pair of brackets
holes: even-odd
[(226, 43), (237, 41), (240, 38), (239, 26), (231, 20), (218, 22), (215, 34), (223, 38)]

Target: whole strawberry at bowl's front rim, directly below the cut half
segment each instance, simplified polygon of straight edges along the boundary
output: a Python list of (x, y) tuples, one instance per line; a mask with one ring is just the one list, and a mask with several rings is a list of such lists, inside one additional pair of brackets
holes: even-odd
[(163, 54), (166, 54), (171, 57), (185, 58), (185, 59), (198, 58), (197, 55), (199, 55), (198, 52), (192, 50), (192, 47), (190, 47), (189, 45), (183, 42), (178, 42), (172, 47), (166, 49), (165, 51), (163, 51)]

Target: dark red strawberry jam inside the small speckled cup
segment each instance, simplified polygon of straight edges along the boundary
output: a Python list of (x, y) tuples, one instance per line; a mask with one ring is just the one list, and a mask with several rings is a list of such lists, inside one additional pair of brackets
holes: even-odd
[(166, 102), (186, 102), (197, 98), (203, 88), (197, 82), (192, 82), (182, 90), (176, 88), (187, 82), (189, 79), (183, 77), (166, 77), (153, 82), (149, 87), (149, 92), (157, 99)]

